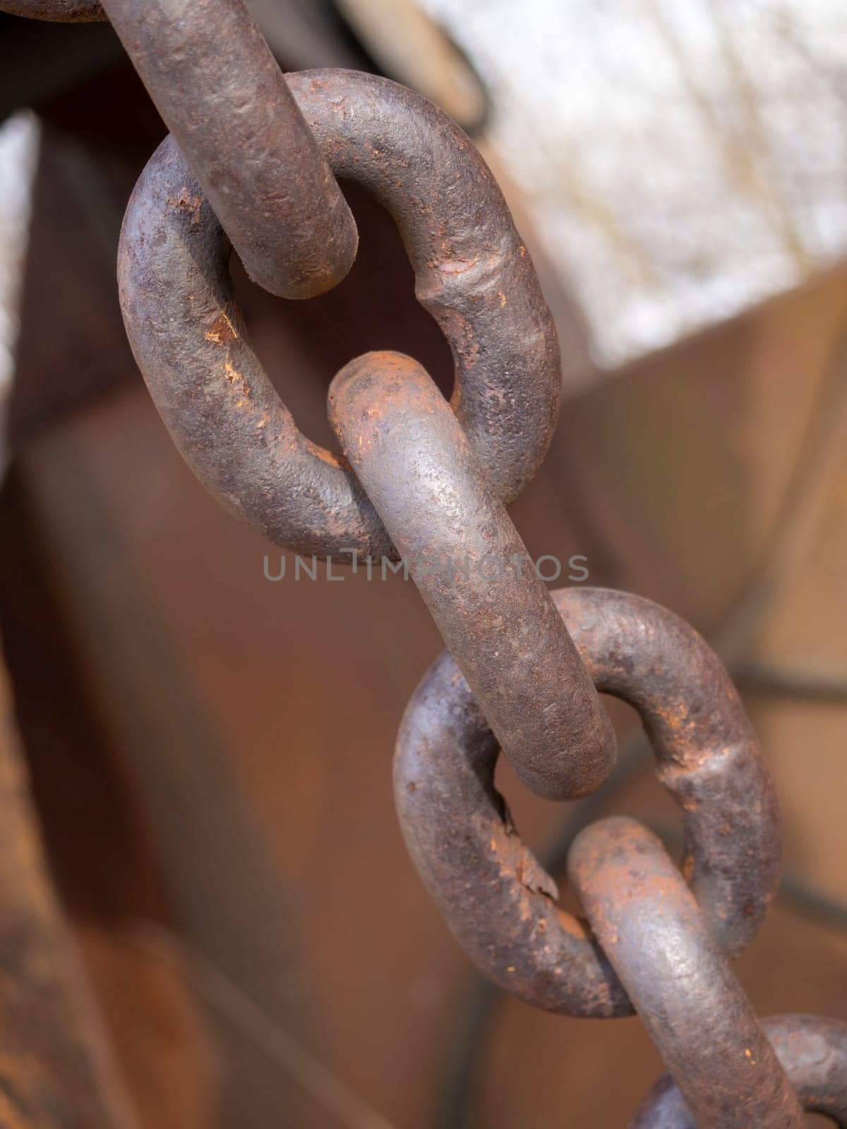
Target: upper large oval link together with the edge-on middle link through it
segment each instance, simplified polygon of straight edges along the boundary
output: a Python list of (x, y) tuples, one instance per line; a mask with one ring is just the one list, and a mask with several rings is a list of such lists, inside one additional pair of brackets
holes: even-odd
[(452, 562), (446, 577), (412, 575), (504, 751), (541, 795), (585, 795), (612, 768), (613, 733), (505, 510), (547, 450), (560, 394), (530, 256), (475, 147), (426, 99), (350, 71), (289, 82), (333, 172), (396, 220), (418, 299), (453, 351), (453, 411), (408, 358), (368, 355), (331, 392), (357, 473), (309, 443), (252, 350), (227, 239), (172, 139), (139, 181), (121, 237), (136, 359), (200, 480), (272, 540), (344, 563), (353, 550)]

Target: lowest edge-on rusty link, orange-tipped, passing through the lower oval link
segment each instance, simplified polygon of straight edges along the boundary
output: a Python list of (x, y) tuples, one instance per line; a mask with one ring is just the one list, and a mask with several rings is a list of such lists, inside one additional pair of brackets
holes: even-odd
[(803, 1110), (693, 894), (635, 820), (580, 832), (568, 876), (699, 1129), (803, 1129)]

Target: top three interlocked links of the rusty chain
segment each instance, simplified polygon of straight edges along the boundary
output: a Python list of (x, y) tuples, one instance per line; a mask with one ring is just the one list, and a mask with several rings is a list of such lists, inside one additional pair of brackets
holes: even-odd
[[(559, 347), (526, 247), (475, 147), (443, 112), (387, 80), (315, 71), (286, 82), (243, 0), (105, 0), (103, 9), (172, 130), (130, 202), (119, 285), (136, 359), (186, 461), (225, 506), (297, 552), (393, 560), (414, 543), (460, 577), (470, 570), (459, 581), (453, 571), (446, 581), (413, 575), (504, 751), (543, 796), (593, 791), (613, 765), (614, 734), (504, 508), (550, 444)], [(343, 277), (356, 233), (333, 173), (392, 213), (418, 299), (453, 352), (459, 422), (442, 411), (440, 427), (422, 438), (433, 478), (425, 482), (419, 465), (407, 479), (402, 515), (385, 493), (374, 505), (376, 480), (398, 481), (396, 465), (367, 457), (342, 410), (342, 447), (372, 497), (344, 462), (298, 431), (233, 301), (230, 240), (248, 273), (280, 295), (320, 294)], [(369, 368), (374, 380), (381, 371), (384, 383), (405, 365), (377, 357), (357, 371)], [(436, 405), (431, 382), (416, 374)], [(417, 496), (416, 485), (425, 487)], [(482, 575), (490, 559), (494, 581)]]

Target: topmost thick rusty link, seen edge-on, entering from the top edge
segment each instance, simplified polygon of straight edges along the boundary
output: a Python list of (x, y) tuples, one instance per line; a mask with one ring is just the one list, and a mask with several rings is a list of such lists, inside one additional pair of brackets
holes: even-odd
[(356, 224), (244, 0), (103, 7), (250, 277), (287, 298), (332, 289)]

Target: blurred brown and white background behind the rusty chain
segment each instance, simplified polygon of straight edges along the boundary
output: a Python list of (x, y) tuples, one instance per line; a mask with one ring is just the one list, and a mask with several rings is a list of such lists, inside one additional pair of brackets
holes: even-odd
[[(533, 557), (586, 557), (590, 583), (658, 599), (719, 650), (787, 843), (739, 974), (763, 1015), (847, 1018), (847, 9), (250, 6), (286, 69), (396, 78), (492, 166), (564, 357), (515, 522)], [(393, 743), (439, 650), (413, 586), (269, 581), (279, 551), (204, 493), (156, 414), (114, 261), (164, 126), (120, 44), (0, 16), (0, 62), (3, 1054), (28, 1061), (27, 1032), (84, 1014), (80, 1053), (151, 1129), (625, 1126), (661, 1071), (638, 1021), (486, 987), (405, 854)], [(451, 384), (392, 221), (349, 199), (359, 256), (323, 298), (280, 301), (234, 263), (260, 357), (326, 445), (326, 387), (363, 351)], [(621, 770), (586, 804), (500, 772), (556, 873), (597, 814), (678, 849), (636, 719), (610, 711)], [(47, 936), (55, 983), (27, 988), (12, 910)]]

